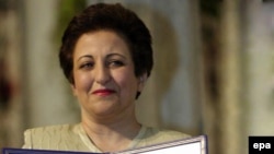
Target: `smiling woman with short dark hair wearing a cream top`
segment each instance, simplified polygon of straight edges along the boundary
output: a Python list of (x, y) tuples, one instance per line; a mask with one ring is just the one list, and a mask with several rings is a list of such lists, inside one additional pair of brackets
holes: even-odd
[(90, 5), (62, 36), (61, 69), (81, 107), (81, 123), (25, 131), (25, 149), (117, 152), (186, 138), (140, 125), (135, 99), (152, 69), (151, 37), (121, 4)]

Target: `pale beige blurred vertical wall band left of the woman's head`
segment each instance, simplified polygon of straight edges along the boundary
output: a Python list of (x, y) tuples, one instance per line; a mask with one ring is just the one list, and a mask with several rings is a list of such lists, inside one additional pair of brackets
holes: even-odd
[(27, 128), (76, 122), (77, 103), (59, 68), (58, 47), (54, 46), (58, 1), (25, 0), (24, 4)]

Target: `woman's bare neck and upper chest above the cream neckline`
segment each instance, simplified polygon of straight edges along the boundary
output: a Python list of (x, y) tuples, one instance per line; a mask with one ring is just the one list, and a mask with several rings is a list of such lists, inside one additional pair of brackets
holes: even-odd
[(140, 123), (134, 112), (112, 118), (82, 115), (82, 127), (92, 142), (103, 152), (125, 150), (140, 130)]

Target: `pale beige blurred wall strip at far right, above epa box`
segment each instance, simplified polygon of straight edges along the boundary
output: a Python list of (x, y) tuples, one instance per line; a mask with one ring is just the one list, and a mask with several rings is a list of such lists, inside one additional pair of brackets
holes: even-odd
[(247, 68), (248, 131), (252, 135), (274, 134), (274, 3), (248, 5)]

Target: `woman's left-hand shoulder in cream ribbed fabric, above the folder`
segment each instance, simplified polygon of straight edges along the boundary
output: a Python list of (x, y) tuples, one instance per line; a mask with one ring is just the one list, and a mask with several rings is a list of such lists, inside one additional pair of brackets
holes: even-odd
[(27, 129), (23, 149), (88, 151), (82, 142), (79, 125), (61, 125)]

